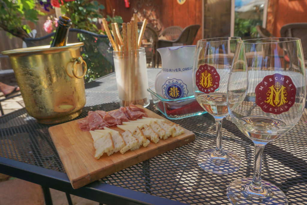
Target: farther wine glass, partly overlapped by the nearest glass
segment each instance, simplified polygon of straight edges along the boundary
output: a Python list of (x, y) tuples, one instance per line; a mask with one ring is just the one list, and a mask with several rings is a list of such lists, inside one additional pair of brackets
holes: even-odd
[(237, 42), (240, 37), (219, 37), (197, 41), (193, 65), (193, 92), (200, 106), (216, 122), (216, 148), (197, 156), (201, 168), (226, 174), (237, 171), (242, 164), (234, 152), (222, 149), (222, 120), (228, 115), (227, 82)]

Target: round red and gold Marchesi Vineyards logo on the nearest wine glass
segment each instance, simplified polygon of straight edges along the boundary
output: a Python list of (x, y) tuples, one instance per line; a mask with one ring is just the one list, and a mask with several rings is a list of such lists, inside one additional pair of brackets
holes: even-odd
[(256, 104), (264, 112), (281, 114), (293, 106), (296, 87), (287, 75), (267, 75), (255, 88)]

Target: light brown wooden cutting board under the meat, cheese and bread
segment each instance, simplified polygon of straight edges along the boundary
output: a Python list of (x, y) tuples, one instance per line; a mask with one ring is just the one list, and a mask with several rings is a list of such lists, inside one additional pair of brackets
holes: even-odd
[[(145, 112), (151, 118), (165, 119), (146, 108)], [(110, 128), (123, 132), (116, 126)], [(103, 154), (96, 160), (91, 134), (81, 131), (77, 120), (52, 126), (49, 133), (74, 189), (195, 140), (195, 134), (185, 129), (185, 132), (177, 137), (160, 139), (156, 144), (150, 142), (147, 147), (141, 146), (124, 154)]]

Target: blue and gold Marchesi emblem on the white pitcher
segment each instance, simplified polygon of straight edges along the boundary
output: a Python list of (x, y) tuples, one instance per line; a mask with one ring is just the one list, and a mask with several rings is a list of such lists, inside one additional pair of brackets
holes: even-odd
[(188, 89), (182, 80), (173, 78), (163, 84), (162, 93), (166, 99), (184, 98), (188, 96)]

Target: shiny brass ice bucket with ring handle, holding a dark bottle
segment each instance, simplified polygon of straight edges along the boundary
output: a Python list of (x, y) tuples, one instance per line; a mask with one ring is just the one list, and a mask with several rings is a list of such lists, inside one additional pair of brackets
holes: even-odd
[(43, 124), (66, 122), (84, 107), (83, 43), (37, 46), (3, 51), (14, 69), (28, 114)]

